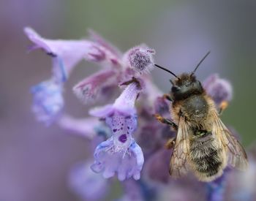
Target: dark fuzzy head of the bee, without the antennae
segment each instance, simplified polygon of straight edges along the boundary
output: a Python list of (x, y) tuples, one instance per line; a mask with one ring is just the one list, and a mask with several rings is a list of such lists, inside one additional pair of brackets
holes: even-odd
[(184, 73), (177, 77), (176, 80), (171, 81), (173, 86), (170, 94), (173, 99), (186, 99), (188, 96), (195, 94), (203, 94), (203, 87), (195, 75)]

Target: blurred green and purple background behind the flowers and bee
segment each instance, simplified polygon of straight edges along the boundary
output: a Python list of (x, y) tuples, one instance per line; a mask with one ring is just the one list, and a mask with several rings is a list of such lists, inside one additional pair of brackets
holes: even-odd
[[(88, 157), (88, 144), (53, 125), (45, 127), (31, 113), (29, 88), (46, 80), (51, 61), (23, 34), (31, 26), (43, 37), (80, 39), (91, 28), (122, 51), (145, 42), (157, 51), (157, 64), (176, 74), (191, 71), (203, 55), (210, 56), (197, 71), (200, 80), (217, 72), (233, 84), (233, 101), (225, 113), (248, 147), (255, 134), (256, 1), (0, 1), (0, 200), (78, 200), (67, 175)], [(65, 110), (87, 115), (72, 94), (72, 86), (98, 67), (86, 61), (66, 84)], [(170, 76), (152, 72), (162, 91)], [(110, 198), (108, 198), (110, 199)]]

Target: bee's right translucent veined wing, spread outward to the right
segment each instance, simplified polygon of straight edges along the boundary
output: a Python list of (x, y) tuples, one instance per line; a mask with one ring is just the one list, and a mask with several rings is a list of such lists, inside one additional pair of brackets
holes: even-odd
[(230, 133), (225, 124), (222, 123), (217, 113), (214, 113), (213, 133), (216, 134), (222, 145), (225, 146), (229, 164), (238, 170), (246, 170), (248, 161), (244, 148), (233, 134)]

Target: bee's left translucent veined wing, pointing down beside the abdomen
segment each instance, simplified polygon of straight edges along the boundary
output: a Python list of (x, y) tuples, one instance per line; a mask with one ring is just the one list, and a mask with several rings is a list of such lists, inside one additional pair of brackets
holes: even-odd
[(178, 122), (178, 133), (170, 159), (170, 175), (174, 178), (181, 177), (187, 173), (187, 158), (189, 155), (189, 132), (183, 117)]

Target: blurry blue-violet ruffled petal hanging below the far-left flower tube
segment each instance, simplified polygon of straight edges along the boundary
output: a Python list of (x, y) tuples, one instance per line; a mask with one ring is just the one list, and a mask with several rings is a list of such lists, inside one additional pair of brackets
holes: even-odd
[(34, 94), (34, 111), (39, 121), (50, 125), (61, 113), (64, 106), (62, 86), (53, 80), (47, 80), (31, 88)]

